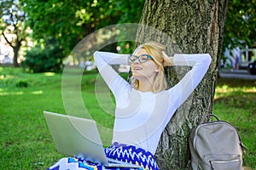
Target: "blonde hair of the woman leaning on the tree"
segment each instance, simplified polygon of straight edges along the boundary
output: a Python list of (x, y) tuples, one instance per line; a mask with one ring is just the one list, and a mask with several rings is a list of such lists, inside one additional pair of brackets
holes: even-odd
[[(143, 48), (146, 50), (146, 52), (154, 59), (154, 63), (159, 67), (159, 72), (154, 78), (154, 82), (152, 84), (153, 86), (153, 92), (158, 93), (160, 91), (163, 91), (167, 88), (167, 82), (166, 82), (166, 76), (165, 76), (165, 70), (163, 66), (163, 54), (162, 52), (166, 51), (166, 47), (159, 42), (146, 42), (139, 47), (137, 47), (133, 54), (137, 52), (138, 49)], [(138, 88), (139, 81), (135, 78), (131, 79), (131, 86), (133, 88)]]

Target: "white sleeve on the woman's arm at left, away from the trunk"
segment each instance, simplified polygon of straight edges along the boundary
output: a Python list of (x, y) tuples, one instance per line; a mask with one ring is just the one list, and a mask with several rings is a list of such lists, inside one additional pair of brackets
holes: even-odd
[(100, 51), (96, 51), (94, 54), (97, 69), (117, 100), (124, 98), (125, 92), (131, 89), (131, 85), (123, 77), (120, 77), (111, 65), (128, 65), (129, 56), (130, 54)]

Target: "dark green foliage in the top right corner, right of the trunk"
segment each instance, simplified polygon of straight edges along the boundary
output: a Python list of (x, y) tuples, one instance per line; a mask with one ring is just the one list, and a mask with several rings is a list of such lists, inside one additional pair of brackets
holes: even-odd
[(256, 43), (256, 1), (230, 0), (224, 27), (224, 48), (252, 48)]

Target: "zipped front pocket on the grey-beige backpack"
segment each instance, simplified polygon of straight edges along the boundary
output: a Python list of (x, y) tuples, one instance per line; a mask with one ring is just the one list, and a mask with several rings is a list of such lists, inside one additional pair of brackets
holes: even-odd
[(241, 169), (242, 159), (240, 155), (210, 155), (206, 156), (208, 166), (214, 170)]

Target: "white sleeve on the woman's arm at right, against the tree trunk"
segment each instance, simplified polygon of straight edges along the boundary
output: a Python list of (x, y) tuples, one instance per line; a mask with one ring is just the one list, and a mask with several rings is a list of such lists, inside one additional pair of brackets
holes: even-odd
[(172, 104), (175, 108), (183, 104), (205, 76), (212, 58), (210, 54), (175, 54), (174, 65), (191, 66), (192, 69), (173, 88), (169, 89)]

